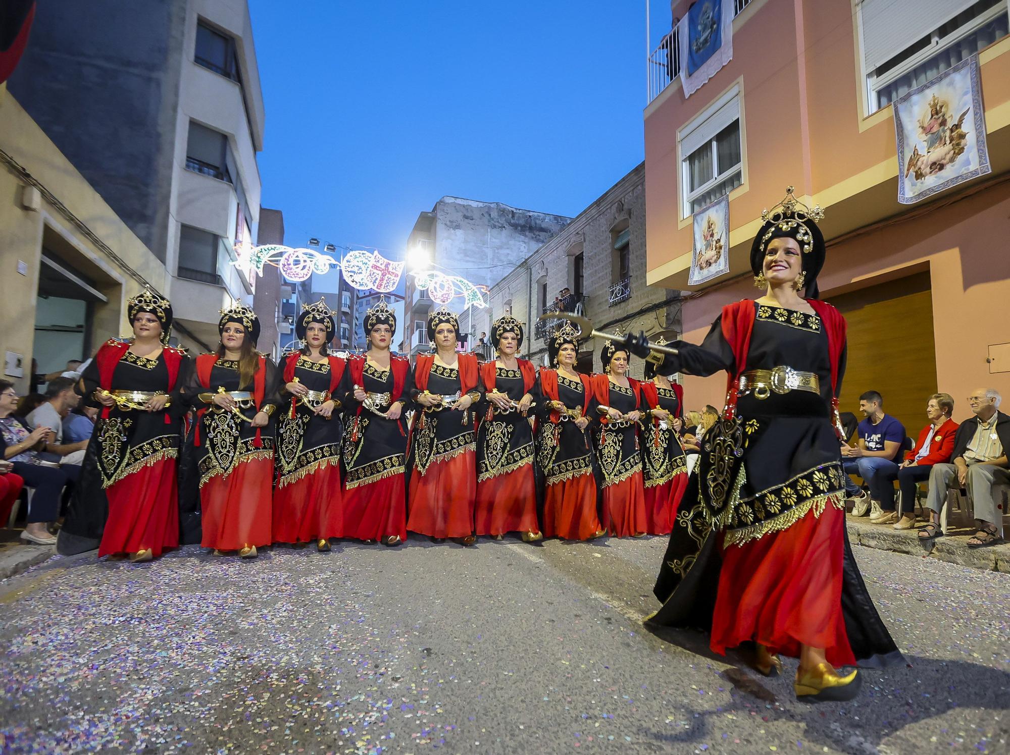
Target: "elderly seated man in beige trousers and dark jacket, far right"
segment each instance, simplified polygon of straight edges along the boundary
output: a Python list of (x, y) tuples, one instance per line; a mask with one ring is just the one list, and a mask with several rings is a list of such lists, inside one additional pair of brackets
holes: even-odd
[(929, 474), (926, 508), (930, 522), (919, 530), (922, 540), (932, 540), (940, 531), (940, 512), (947, 490), (954, 483), (968, 491), (979, 531), (968, 541), (969, 548), (986, 548), (1003, 542), (1003, 505), (996, 502), (995, 488), (1010, 484), (1007, 449), (1010, 449), (1010, 417), (999, 411), (1002, 401), (994, 389), (978, 389), (968, 399), (972, 413), (957, 428), (953, 440), (952, 463), (933, 464)]

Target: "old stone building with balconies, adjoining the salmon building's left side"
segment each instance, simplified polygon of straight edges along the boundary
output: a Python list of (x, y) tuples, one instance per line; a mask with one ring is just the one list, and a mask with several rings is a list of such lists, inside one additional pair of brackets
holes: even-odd
[[(639, 165), (492, 286), (490, 306), (475, 311), (477, 331), (490, 334), (491, 323), (511, 314), (526, 323), (524, 354), (545, 364), (546, 339), (561, 321), (537, 318), (556, 311), (554, 299), (565, 289), (570, 295), (562, 304), (584, 314), (597, 330), (679, 330), (677, 293), (645, 285), (644, 181)], [(601, 370), (602, 347), (598, 338), (583, 342), (580, 370)], [(632, 376), (640, 378), (643, 366), (632, 359)]]

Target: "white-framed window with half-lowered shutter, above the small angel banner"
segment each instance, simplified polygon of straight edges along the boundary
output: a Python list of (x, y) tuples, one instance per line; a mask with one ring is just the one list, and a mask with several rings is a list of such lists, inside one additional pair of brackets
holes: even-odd
[(682, 216), (743, 183), (740, 95), (734, 88), (681, 131)]

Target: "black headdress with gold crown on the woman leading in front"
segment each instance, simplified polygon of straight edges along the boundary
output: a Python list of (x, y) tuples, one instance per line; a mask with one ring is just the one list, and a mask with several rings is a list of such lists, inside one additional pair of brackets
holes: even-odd
[(824, 218), (819, 205), (807, 207), (793, 196), (793, 187), (786, 189), (786, 198), (761, 214), (764, 225), (750, 245), (750, 269), (760, 276), (765, 269), (765, 250), (769, 242), (776, 238), (792, 238), (800, 245), (800, 258), (804, 277), (803, 286), (807, 299), (818, 299), (817, 276), (824, 266), (824, 236), (817, 227), (818, 220)]

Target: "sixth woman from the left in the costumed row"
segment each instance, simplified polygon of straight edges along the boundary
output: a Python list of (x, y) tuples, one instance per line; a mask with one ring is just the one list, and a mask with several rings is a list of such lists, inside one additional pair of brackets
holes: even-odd
[(501, 538), (519, 532), (526, 542), (543, 539), (536, 521), (533, 430), (526, 412), (533, 404), (536, 367), (516, 357), (522, 323), (511, 315), (491, 326), (498, 358), (481, 365), (486, 409), (477, 434), (475, 533)]

